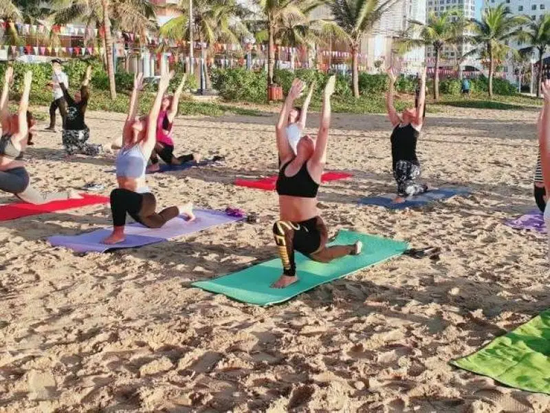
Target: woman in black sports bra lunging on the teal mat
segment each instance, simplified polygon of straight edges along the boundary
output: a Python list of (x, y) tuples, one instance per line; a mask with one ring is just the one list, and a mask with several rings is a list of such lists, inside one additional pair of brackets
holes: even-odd
[(307, 255), (317, 262), (330, 262), (344, 255), (361, 252), (361, 242), (327, 248), (328, 232), (317, 210), (317, 191), (327, 159), (327, 139), (331, 120), (330, 97), (334, 92), (336, 77), (331, 76), (325, 87), (321, 123), (314, 140), (307, 135), (296, 145), (296, 155), (287, 136), (288, 115), (294, 100), (305, 85), (298, 79), (292, 83), (281, 117), (276, 127), (277, 147), (281, 169), (276, 184), (279, 195), (280, 220), (273, 225), (275, 242), (283, 262), (283, 275), (272, 284), (273, 288), (285, 288), (298, 281), (294, 251)]

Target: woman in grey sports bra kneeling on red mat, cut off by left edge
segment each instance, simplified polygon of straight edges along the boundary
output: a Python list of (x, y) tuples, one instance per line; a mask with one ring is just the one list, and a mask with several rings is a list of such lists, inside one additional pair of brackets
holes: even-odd
[(0, 97), (0, 190), (13, 193), (17, 198), (30, 204), (45, 204), (55, 200), (82, 198), (74, 191), (41, 194), (30, 186), (30, 178), (25, 169), (23, 155), (30, 139), (30, 129), (34, 118), (28, 111), (32, 72), (25, 73), (23, 93), (17, 114), (8, 111), (8, 94), (13, 81), (13, 67), (5, 70), (4, 86)]

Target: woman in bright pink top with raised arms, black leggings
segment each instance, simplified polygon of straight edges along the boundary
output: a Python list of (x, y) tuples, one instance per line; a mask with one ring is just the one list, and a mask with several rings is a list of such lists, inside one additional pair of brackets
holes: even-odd
[(162, 98), (162, 105), (157, 118), (157, 142), (155, 143), (153, 152), (151, 152), (151, 166), (147, 168), (148, 172), (156, 172), (160, 169), (159, 157), (164, 160), (166, 165), (181, 165), (192, 160), (195, 162), (201, 160), (198, 153), (181, 155), (177, 158), (174, 156), (173, 123), (177, 115), (179, 96), (181, 96), (181, 92), (184, 90), (186, 79), (187, 75), (181, 78), (174, 96), (165, 95)]

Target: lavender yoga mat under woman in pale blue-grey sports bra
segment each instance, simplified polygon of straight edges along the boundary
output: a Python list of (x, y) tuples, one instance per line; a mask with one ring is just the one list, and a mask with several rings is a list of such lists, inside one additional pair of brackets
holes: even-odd
[(126, 240), (114, 245), (102, 243), (102, 240), (111, 234), (112, 227), (80, 235), (54, 235), (47, 240), (53, 246), (65, 246), (77, 253), (104, 253), (111, 249), (135, 248), (137, 246), (155, 244), (156, 242), (181, 237), (181, 235), (195, 233), (203, 229), (212, 228), (213, 226), (228, 224), (229, 222), (236, 222), (242, 219), (230, 217), (223, 212), (202, 209), (197, 209), (195, 216), (197, 218), (191, 222), (187, 222), (181, 217), (174, 218), (166, 222), (162, 228), (157, 229), (149, 229), (137, 223), (129, 224), (124, 231)]

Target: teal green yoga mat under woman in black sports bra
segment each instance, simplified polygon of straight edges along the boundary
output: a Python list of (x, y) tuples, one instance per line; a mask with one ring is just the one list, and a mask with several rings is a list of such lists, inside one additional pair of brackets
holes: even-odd
[(192, 285), (245, 303), (267, 306), (287, 301), (320, 284), (355, 273), (355, 271), (386, 261), (395, 255), (401, 255), (408, 248), (406, 242), (353, 231), (339, 231), (336, 240), (329, 245), (353, 244), (358, 240), (363, 242), (363, 252), (360, 255), (342, 257), (329, 264), (314, 262), (304, 255), (296, 253), (296, 269), (299, 280), (287, 288), (270, 287), (283, 273), (283, 266), (278, 258), (245, 268), (237, 273), (223, 275), (210, 281), (195, 282)]

